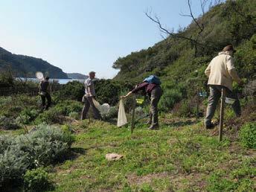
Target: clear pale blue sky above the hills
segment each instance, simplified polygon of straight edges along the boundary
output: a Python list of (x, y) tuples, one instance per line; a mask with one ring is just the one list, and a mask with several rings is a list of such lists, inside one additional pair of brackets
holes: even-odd
[[(200, 0), (192, 0), (196, 16)], [(159, 42), (145, 15), (153, 10), (167, 28), (191, 23), (187, 0), (0, 0), (0, 46), (39, 57), (65, 72), (112, 78), (112, 63)]]

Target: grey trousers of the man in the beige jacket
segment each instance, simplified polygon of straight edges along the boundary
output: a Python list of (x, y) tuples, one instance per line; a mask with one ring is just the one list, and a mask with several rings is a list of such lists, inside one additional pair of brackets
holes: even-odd
[(238, 100), (237, 95), (235, 95), (225, 86), (211, 85), (209, 87), (210, 87), (210, 95), (208, 97), (208, 106), (207, 106), (206, 117), (205, 117), (205, 125), (211, 124), (211, 119), (214, 117), (214, 112), (216, 110), (217, 104), (221, 97), (221, 89), (223, 88), (225, 89), (226, 97), (235, 99), (234, 103), (232, 104), (234, 113), (237, 115), (237, 117), (241, 115), (241, 106), (240, 106), (240, 101)]

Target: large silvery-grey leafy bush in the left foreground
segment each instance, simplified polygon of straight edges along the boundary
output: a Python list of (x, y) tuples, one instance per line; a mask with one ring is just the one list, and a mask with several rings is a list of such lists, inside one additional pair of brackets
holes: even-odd
[(27, 169), (62, 161), (72, 142), (69, 127), (40, 125), (25, 135), (1, 135), (0, 186), (20, 182)]

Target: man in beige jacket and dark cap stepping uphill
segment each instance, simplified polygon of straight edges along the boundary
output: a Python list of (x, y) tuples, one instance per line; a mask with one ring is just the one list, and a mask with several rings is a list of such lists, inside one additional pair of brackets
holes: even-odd
[(213, 129), (214, 124), (211, 123), (211, 119), (214, 117), (214, 112), (217, 107), (217, 103), (221, 97), (221, 89), (225, 89), (226, 97), (235, 99), (232, 104), (237, 117), (241, 115), (240, 101), (237, 95), (232, 92), (232, 83), (236, 81), (238, 84), (243, 84), (240, 77), (237, 75), (237, 71), (234, 68), (234, 59), (232, 55), (235, 50), (232, 45), (228, 45), (223, 48), (223, 51), (219, 53), (217, 57), (211, 60), (211, 63), (205, 69), (205, 75), (208, 77), (208, 86), (210, 88), (210, 95), (208, 97), (208, 107), (205, 117), (205, 128)]

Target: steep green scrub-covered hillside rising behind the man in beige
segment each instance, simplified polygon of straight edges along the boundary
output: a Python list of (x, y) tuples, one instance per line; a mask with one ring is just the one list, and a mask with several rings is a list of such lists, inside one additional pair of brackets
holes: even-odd
[(253, 79), (256, 72), (255, 33), (256, 1), (226, 1), (211, 7), (196, 22), (153, 47), (118, 58), (113, 64), (113, 68), (120, 69), (115, 80), (141, 80), (147, 74), (174, 82), (204, 77), (203, 71), (212, 57), (229, 44), (237, 48), (234, 57), (240, 76)]

